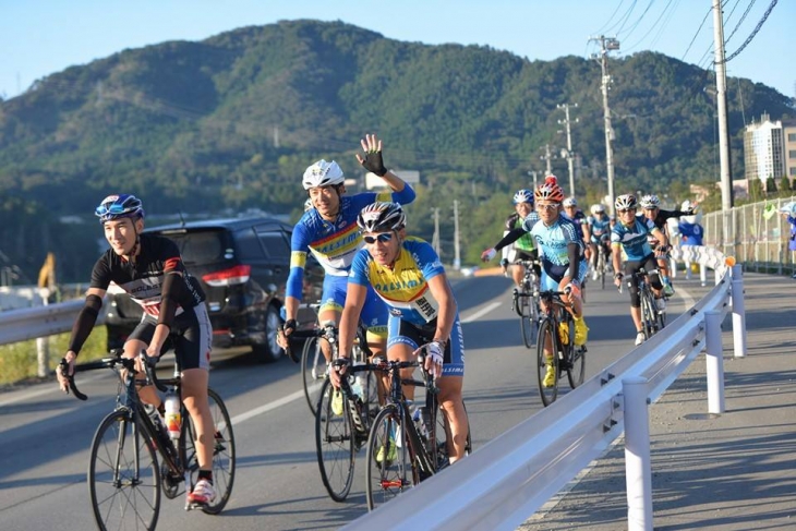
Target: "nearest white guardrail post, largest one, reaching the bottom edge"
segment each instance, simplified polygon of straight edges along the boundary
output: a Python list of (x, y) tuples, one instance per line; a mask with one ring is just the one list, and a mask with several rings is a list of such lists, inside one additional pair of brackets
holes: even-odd
[(652, 531), (652, 464), (647, 378), (623, 378), (625, 397), (625, 475), (627, 529)]

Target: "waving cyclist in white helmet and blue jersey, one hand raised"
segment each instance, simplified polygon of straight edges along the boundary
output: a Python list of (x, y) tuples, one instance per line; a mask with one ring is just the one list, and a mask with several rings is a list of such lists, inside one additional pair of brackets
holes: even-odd
[[(318, 309), (318, 322), (334, 321), (339, 324), (342, 306), (346, 303), (346, 286), (351, 262), (362, 249), (362, 236), (357, 228), (357, 215), (374, 201), (395, 201), (411, 203), (414, 190), (398, 176), (384, 167), (382, 141), (365, 135), (361, 141), (364, 156), (357, 154), (357, 160), (367, 170), (384, 179), (389, 192), (363, 192), (350, 197), (345, 196), (346, 178), (342, 169), (334, 160), (318, 160), (304, 171), (302, 184), (312, 202), (293, 229), (290, 243), (290, 274), (285, 297), (285, 325), (277, 334), (277, 342), (287, 348), (287, 335), (298, 327), (296, 316), (302, 299), (304, 265), (306, 253), (311, 252), (323, 266), (323, 294)], [(369, 290), (362, 312), (362, 321), (367, 326), (367, 345), (372, 352), (385, 350), (387, 338), (387, 307), (374, 290)], [(331, 359), (329, 346), (322, 342), (327, 363)], [(327, 365), (328, 366), (328, 365)], [(336, 394), (333, 400), (336, 411), (342, 410), (342, 398)]]

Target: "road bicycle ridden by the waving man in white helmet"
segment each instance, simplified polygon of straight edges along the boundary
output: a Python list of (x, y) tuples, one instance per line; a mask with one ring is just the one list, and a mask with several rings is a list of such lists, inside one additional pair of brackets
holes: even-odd
[[(319, 343), (319, 338), (325, 339), (335, 360), (331, 366), (340, 366), (347, 361), (338, 359), (338, 331), (335, 322), (330, 321), (314, 330), (297, 330), (288, 338), (306, 338), (306, 343)], [(367, 441), (371, 420), (378, 410), (378, 383), (373, 374), (375, 366), (366, 363), (371, 352), (362, 339), (363, 326), (360, 326), (360, 331), (362, 337), (359, 346), (353, 349), (353, 364), (340, 381), (342, 411), (336, 413), (333, 410), (336, 391), (328, 376), (318, 385), (315, 403), (315, 450), (321, 480), (335, 502), (343, 502), (351, 491), (357, 452)], [(323, 358), (323, 353), (319, 355)], [(357, 373), (363, 375), (357, 376)], [(349, 381), (351, 376), (353, 384)]]

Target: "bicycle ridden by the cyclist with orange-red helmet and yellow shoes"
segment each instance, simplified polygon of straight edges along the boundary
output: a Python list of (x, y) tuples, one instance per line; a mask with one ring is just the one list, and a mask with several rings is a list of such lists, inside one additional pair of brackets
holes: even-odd
[[(536, 376), (539, 394), (542, 403), (546, 407), (558, 397), (558, 379), (567, 373), (569, 387), (575, 389), (583, 383), (586, 374), (586, 346), (575, 347), (575, 321), (567, 311), (568, 304), (562, 300), (565, 291), (542, 291), (540, 298), (546, 305), (546, 311), (539, 325), (539, 341), (536, 342)], [(553, 352), (547, 358), (546, 352)], [(552, 363), (555, 371), (553, 385), (545, 387), (547, 363)]]

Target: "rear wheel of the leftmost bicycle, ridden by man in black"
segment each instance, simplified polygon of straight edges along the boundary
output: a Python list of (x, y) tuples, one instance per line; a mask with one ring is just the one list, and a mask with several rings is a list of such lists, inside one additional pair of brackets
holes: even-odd
[[(216, 490), (216, 498), (202, 507), (202, 511), (208, 515), (219, 514), (229, 502), (232, 494), (236, 473), (236, 448), (232, 421), (229, 419), (227, 407), (224, 400), (213, 389), (207, 389), (207, 400), (210, 403), (210, 417), (213, 418), (213, 486)], [(180, 434), (180, 452), (185, 470), (190, 474), (191, 483), (196, 484), (198, 479), (198, 461), (196, 460), (196, 426), (189, 415), (189, 421), (182, 422)]]

